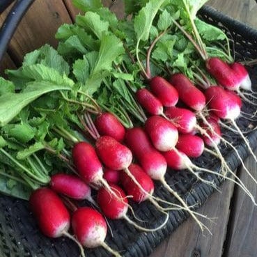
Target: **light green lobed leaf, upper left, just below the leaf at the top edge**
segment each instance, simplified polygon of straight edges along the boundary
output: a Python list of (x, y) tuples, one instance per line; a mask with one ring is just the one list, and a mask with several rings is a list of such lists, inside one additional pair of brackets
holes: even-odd
[(101, 20), (100, 15), (90, 11), (88, 11), (84, 16), (77, 15), (76, 23), (86, 29), (86, 31), (91, 31), (91, 33), (95, 34), (95, 36), (101, 40), (102, 35), (109, 29), (109, 22)]

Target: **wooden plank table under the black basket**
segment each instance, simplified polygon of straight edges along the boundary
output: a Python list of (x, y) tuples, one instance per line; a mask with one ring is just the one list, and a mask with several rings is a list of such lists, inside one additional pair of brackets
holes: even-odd
[[(0, 0), (1, 1), (1, 0)], [(111, 2), (111, 0), (107, 0)], [(112, 7), (120, 9), (120, 1)], [(257, 4), (254, 0), (211, 0), (213, 6), (237, 20), (257, 29)], [(26, 52), (48, 42), (56, 46), (54, 33), (64, 22), (72, 22), (77, 10), (70, 0), (36, 0), (22, 20), (13, 37), (0, 73), (5, 68), (15, 68), (22, 62)], [(0, 24), (5, 14), (0, 17)], [(37, 22), (33, 22), (37, 20)], [(257, 152), (256, 152), (257, 154)], [(252, 157), (245, 161), (248, 169), (256, 176), (256, 163)], [(245, 176), (242, 169), (237, 175), (251, 189), (257, 198), (257, 187)], [(257, 256), (257, 212), (253, 204), (232, 183), (225, 182), (221, 193), (213, 194), (203, 205), (201, 212), (216, 218), (213, 223), (206, 221), (212, 235), (203, 235), (198, 226), (188, 219), (171, 237), (165, 240), (150, 257), (256, 257)]]

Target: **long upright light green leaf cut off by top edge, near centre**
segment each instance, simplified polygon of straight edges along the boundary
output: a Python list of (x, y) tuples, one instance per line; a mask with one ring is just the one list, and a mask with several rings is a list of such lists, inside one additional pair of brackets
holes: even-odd
[(134, 18), (134, 30), (137, 34), (137, 40), (148, 40), (150, 28), (159, 8), (165, 0), (149, 0), (146, 6), (141, 8), (139, 14)]

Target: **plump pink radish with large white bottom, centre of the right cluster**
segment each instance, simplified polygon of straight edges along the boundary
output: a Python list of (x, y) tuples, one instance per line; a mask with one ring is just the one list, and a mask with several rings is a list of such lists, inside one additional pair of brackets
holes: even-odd
[(150, 116), (145, 123), (145, 131), (153, 146), (159, 151), (168, 151), (178, 142), (178, 130), (169, 120), (161, 116)]

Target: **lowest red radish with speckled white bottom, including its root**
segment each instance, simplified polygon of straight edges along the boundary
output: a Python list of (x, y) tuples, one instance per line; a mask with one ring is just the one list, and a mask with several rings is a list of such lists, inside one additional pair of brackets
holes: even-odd
[(89, 207), (78, 208), (72, 215), (72, 229), (77, 240), (84, 247), (103, 247), (114, 256), (121, 257), (104, 242), (107, 235), (107, 223), (97, 210)]

